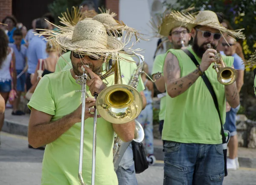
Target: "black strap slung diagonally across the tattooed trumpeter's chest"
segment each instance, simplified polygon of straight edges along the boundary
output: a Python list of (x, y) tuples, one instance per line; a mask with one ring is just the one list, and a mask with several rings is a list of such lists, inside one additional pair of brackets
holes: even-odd
[[(190, 57), (190, 59), (194, 62), (194, 64), (196, 66), (199, 66), (199, 63), (195, 59), (195, 56), (188, 49), (184, 49), (183, 51)], [(224, 162), (225, 162), (225, 168), (224, 169), (225, 169), (225, 176), (227, 176), (227, 142), (226, 142), (226, 137), (225, 137), (225, 134), (224, 134), (224, 129), (223, 129), (223, 124), (222, 124), (222, 120), (221, 120), (220, 110), (219, 110), (219, 107), (218, 107), (218, 100), (217, 100), (216, 94), (214, 92), (214, 89), (212, 87), (212, 84), (210, 83), (210, 81), (207, 78), (207, 76), (205, 75), (205, 73), (201, 77), (204, 80), (205, 85), (207, 86), (208, 90), (210, 91), (210, 93), (212, 95), (212, 99), (214, 101), (214, 105), (215, 105), (215, 108), (217, 109), (218, 116), (219, 116), (219, 119), (220, 119), (220, 122), (221, 122), (221, 136), (222, 136)]]

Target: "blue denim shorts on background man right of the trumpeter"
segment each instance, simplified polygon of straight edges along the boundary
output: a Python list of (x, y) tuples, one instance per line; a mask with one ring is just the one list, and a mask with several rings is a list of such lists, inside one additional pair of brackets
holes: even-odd
[(240, 105), (237, 108), (231, 108), (226, 113), (226, 122), (224, 124), (224, 130), (230, 131), (230, 136), (235, 136), (236, 132), (236, 114), (239, 111)]

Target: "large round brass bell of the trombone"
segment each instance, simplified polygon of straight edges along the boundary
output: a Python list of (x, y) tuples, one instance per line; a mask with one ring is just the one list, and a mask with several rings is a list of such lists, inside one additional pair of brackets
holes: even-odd
[(105, 88), (97, 98), (96, 106), (102, 118), (122, 124), (134, 120), (143, 108), (140, 93), (130, 85), (115, 84)]

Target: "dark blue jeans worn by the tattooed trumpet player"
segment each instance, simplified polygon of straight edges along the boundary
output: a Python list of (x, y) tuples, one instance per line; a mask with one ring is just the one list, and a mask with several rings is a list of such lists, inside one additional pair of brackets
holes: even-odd
[(222, 144), (165, 141), (164, 185), (222, 185)]

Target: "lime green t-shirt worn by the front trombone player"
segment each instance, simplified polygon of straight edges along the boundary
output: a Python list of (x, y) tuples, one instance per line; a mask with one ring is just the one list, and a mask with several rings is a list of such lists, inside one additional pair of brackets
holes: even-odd
[[(108, 78), (113, 85), (113, 75)], [(76, 83), (70, 70), (45, 75), (38, 83), (29, 108), (52, 115), (55, 121), (75, 111), (81, 104), (81, 85)], [(88, 86), (87, 93), (91, 96)], [(76, 92), (79, 91), (79, 92)], [(54, 142), (46, 145), (42, 165), (42, 185), (80, 185), (78, 179), (81, 122), (73, 125)], [(112, 124), (103, 118), (97, 120), (96, 185), (117, 185), (113, 167)], [(93, 149), (93, 118), (84, 122), (83, 179), (91, 182)]]

